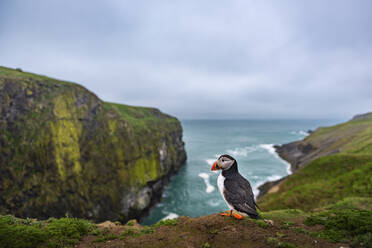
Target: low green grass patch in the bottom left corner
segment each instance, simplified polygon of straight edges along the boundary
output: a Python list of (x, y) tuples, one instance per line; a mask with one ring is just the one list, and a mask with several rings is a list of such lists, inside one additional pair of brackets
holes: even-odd
[(0, 244), (4, 248), (73, 247), (95, 229), (87, 220), (51, 218), (45, 222), (0, 216)]

